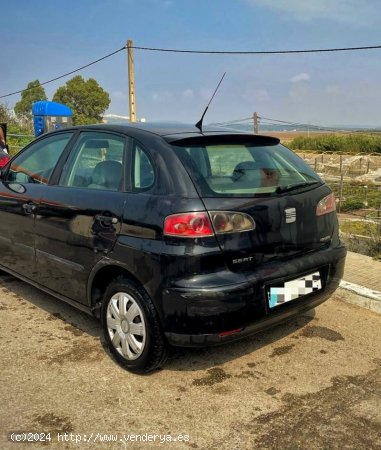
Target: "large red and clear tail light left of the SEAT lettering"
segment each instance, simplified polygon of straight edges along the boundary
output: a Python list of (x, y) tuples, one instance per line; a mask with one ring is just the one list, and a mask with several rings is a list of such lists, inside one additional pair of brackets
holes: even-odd
[(230, 211), (173, 214), (164, 221), (164, 235), (205, 237), (222, 233), (237, 233), (255, 229), (248, 214)]

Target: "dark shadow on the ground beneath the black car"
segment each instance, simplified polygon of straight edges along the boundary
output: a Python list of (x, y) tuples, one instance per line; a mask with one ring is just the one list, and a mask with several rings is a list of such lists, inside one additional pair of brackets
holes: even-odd
[[(118, 364), (106, 346), (98, 320), (4, 272), (0, 272), (0, 283), (3, 290), (9, 291), (11, 295), (13, 294), (18, 299), (21, 303), (20, 306), (24, 302), (28, 302), (36, 308), (47, 312), (49, 317), (59, 319), (89, 336), (98, 337), (106, 353), (115, 364)], [(162, 369), (193, 372), (215, 368), (244, 355), (255, 354), (260, 348), (281, 341), (283, 338), (305, 327), (314, 317), (315, 311), (311, 310), (288, 322), (276, 325), (269, 330), (261, 331), (250, 337), (219, 346), (205, 348), (170, 347), (168, 359)], [(280, 344), (273, 349), (273, 353), (275, 352), (274, 356), (277, 352), (280, 354), (288, 352), (292, 346), (282, 346)], [(151, 372), (151, 374), (155, 374), (155, 371)]]

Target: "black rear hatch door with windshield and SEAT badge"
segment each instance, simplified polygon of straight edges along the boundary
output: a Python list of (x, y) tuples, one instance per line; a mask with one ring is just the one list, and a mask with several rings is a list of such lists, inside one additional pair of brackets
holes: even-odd
[[(210, 214), (231, 270), (250, 270), (329, 245), (336, 214), (332, 208), (319, 211), (332, 202), (331, 190), (279, 140), (219, 135), (172, 145)], [(252, 229), (224, 232), (220, 224), (232, 217), (224, 212), (248, 215)]]

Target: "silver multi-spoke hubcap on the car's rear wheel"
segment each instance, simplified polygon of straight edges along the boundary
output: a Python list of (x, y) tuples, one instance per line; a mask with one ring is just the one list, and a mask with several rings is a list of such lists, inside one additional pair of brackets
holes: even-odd
[(147, 334), (143, 312), (126, 292), (114, 294), (107, 306), (107, 331), (123, 358), (133, 360), (142, 354)]

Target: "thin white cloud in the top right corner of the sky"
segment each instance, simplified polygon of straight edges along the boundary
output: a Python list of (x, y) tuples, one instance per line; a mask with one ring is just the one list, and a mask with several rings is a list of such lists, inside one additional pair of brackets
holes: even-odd
[(247, 0), (253, 6), (263, 6), (303, 22), (325, 19), (365, 26), (380, 19), (377, 0)]

